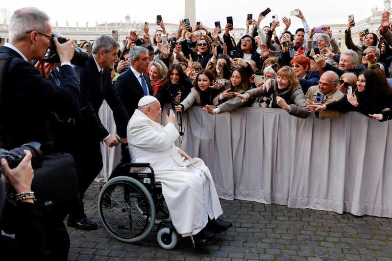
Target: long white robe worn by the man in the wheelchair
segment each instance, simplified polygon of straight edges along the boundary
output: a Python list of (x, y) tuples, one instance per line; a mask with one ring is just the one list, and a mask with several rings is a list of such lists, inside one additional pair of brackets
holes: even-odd
[[(174, 141), (179, 133), (172, 123), (165, 127), (135, 110), (127, 126), (127, 138), (131, 162), (148, 162), (154, 169), (155, 181), (162, 184), (162, 192), (169, 209), (172, 223), (182, 236), (194, 235), (205, 226), (205, 198), (212, 210), (211, 219), (223, 212), (210, 170), (199, 158), (187, 160), (178, 154)], [(188, 171), (194, 166), (204, 172), (209, 182), (209, 195), (203, 194), (203, 177)], [(141, 170), (141, 172), (144, 170)], [(208, 207), (207, 206), (207, 207)]]

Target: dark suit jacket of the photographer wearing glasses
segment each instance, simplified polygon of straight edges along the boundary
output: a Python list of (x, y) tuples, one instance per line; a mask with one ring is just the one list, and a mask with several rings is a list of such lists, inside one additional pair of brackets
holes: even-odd
[(77, 74), (72, 66), (61, 67), (61, 86), (44, 79), (38, 70), (16, 51), (1, 46), (0, 57), (8, 61), (0, 108), (0, 142), (6, 149), (26, 142), (40, 142), (41, 150), (54, 152), (48, 112), (73, 113), (79, 105)]

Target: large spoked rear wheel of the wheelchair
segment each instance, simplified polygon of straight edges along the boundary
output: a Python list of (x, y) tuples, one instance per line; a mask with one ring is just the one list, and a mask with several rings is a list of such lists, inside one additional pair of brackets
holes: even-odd
[(147, 237), (154, 226), (154, 201), (134, 178), (119, 176), (108, 181), (99, 193), (98, 206), (105, 228), (123, 242)]

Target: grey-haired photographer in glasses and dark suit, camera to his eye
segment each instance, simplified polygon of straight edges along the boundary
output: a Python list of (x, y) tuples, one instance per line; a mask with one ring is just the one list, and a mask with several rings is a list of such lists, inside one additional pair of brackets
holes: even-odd
[[(79, 103), (77, 75), (70, 63), (74, 40), (59, 44), (56, 38), (51, 37), (49, 16), (34, 7), (16, 10), (8, 29), (9, 43), (0, 47), (0, 58), (8, 58), (0, 99), (0, 142), (5, 149), (13, 149), (26, 142), (40, 142), (41, 150), (49, 155), (54, 152), (54, 143), (48, 112), (62, 109), (72, 113)], [(45, 70), (40, 74), (30, 63), (42, 60), (53, 41), (61, 62), (60, 86), (45, 79), (53, 64), (44, 64)], [(64, 218), (50, 212), (46, 220), (47, 260), (67, 260), (70, 239)]]

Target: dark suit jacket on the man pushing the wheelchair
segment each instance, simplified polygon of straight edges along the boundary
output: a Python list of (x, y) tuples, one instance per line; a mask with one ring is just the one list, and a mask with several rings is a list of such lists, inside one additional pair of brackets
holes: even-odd
[(118, 135), (122, 138), (126, 137), (126, 125), (128, 124), (129, 116), (123, 102), (113, 88), (110, 69), (104, 68), (103, 73), (100, 74), (93, 55), (90, 54), (86, 67), (76, 66), (75, 70), (79, 74), (80, 81), (79, 116), (75, 117), (75, 124), (80, 137), (90, 141), (102, 141), (109, 135), (109, 132), (98, 117), (103, 99), (106, 100), (114, 115), (121, 119), (116, 122), (119, 130)]

